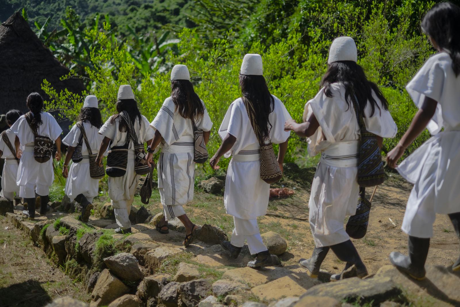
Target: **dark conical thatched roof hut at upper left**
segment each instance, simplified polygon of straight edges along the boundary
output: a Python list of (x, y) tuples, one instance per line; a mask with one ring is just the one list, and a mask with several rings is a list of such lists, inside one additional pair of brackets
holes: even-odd
[(69, 69), (57, 61), (19, 12), (0, 25), (0, 114), (12, 108), (27, 111), (26, 98), (31, 92), (48, 99), (41, 90), (43, 79), (57, 92), (67, 88), (81, 93), (80, 80), (59, 80), (67, 73)]

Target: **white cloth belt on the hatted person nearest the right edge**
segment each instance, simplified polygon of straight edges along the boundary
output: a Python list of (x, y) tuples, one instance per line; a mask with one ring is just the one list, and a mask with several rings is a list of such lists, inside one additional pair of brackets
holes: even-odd
[(332, 143), (321, 153), (320, 162), (334, 167), (358, 165), (360, 141)]

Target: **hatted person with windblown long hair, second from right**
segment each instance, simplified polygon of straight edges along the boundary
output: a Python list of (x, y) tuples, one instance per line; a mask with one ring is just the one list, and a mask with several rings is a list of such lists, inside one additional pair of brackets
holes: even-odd
[[(321, 153), (311, 184), (309, 221), (316, 248), (310, 259), (301, 259), (311, 277), (317, 277), (329, 249), (346, 262), (348, 277), (368, 274), (350, 236), (344, 229), (347, 215), (356, 213), (359, 185), (357, 163), (360, 127), (354, 102), (362, 112), (369, 132), (394, 137), (397, 126), (388, 112), (388, 103), (376, 84), (370, 82), (357, 64), (355, 41), (348, 36), (336, 38), (330, 47), (328, 71), (315, 98), (305, 105), (304, 123), (293, 120), (286, 130), (308, 137), (308, 153)], [(334, 274), (331, 281), (341, 277)], [(343, 278), (343, 275), (342, 275)]]

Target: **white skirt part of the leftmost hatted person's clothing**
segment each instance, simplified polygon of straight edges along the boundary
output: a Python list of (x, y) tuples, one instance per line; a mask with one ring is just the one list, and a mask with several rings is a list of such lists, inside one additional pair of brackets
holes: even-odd
[(88, 159), (83, 159), (70, 165), (69, 177), (67, 177), (64, 192), (69, 196), (70, 201), (74, 201), (79, 194), (83, 194), (86, 197), (98, 196), (99, 179), (91, 178)]

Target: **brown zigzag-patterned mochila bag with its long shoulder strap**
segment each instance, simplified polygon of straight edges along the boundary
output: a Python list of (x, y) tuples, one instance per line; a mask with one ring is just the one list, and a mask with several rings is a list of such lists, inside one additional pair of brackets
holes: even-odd
[(242, 99), (244, 106), (246, 107), (247, 116), (249, 117), (249, 121), (251, 122), (251, 126), (253, 127), (254, 133), (256, 134), (260, 145), (260, 178), (269, 184), (276, 183), (281, 179), (283, 173), (280, 165), (278, 164), (278, 159), (276, 159), (273, 144), (271, 142), (265, 144), (256, 123), (253, 104), (244, 97)]

